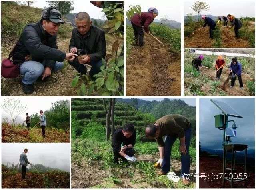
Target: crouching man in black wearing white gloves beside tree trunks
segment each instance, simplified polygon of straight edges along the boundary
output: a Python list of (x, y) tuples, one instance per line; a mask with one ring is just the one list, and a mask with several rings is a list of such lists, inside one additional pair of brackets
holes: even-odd
[(124, 125), (123, 128), (117, 129), (113, 134), (112, 148), (114, 153), (114, 163), (118, 163), (118, 158), (122, 161), (135, 162), (134, 145), (136, 142), (136, 130), (130, 123)]

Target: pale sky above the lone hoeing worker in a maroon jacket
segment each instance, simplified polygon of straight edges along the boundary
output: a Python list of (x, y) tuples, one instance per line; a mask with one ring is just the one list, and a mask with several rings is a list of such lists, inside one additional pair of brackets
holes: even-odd
[(180, 12), (182, 10), (182, 4), (183, 2), (178, 1), (156, 1), (156, 0), (148, 0), (148, 1), (142, 1), (142, 0), (127, 0), (124, 3), (125, 10), (129, 9), (129, 6), (135, 6), (140, 5), (141, 11), (147, 12), (150, 7), (154, 7), (158, 10), (159, 15), (155, 18), (160, 20), (161, 17), (164, 17), (164, 15), (168, 15), (169, 20), (175, 20), (177, 22), (180, 22)]

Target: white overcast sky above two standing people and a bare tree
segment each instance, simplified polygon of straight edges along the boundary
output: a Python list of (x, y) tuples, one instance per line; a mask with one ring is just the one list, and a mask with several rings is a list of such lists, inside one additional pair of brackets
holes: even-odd
[[(4, 103), (4, 100), (6, 98), (2, 98), (2, 104)], [(11, 99), (11, 98), (10, 98)], [(22, 97), (22, 98), (14, 98), (15, 100), (20, 99), (20, 104), (27, 105), (27, 110), (20, 115), (17, 122), (20, 122), (20, 120), (26, 119), (26, 113), (28, 113), (29, 116), (32, 114), (39, 114), (40, 110), (46, 111), (49, 110), (52, 107), (52, 103), (57, 102), (59, 100), (67, 100), (67, 98), (52, 98), (52, 97)], [(8, 117), (10, 119), (10, 116), (2, 109), (2, 118)]]

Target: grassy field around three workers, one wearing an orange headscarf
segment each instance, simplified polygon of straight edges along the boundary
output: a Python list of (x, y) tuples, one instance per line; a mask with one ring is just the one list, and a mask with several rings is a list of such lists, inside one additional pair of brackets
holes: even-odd
[[(226, 65), (223, 68), (221, 79), (215, 80), (216, 74), (215, 60), (216, 55), (204, 55), (202, 65), (209, 67), (200, 68), (200, 72), (193, 70), (192, 60), (198, 55), (184, 53), (184, 95), (185, 96), (254, 96), (254, 57), (238, 58), (238, 62), (242, 64), (242, 80), (244, 89), (239, 87), (238, 79), (236, 79), (234, 88), (230, 89), (231, 84), (228, 80), (229, 66), (231, 56), (226, 57)], [(210, 77), (211, 76), (211, 77)]]

